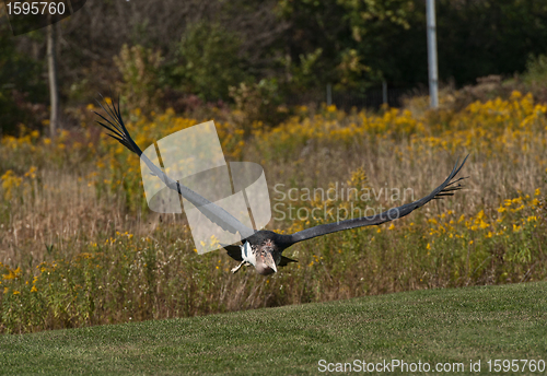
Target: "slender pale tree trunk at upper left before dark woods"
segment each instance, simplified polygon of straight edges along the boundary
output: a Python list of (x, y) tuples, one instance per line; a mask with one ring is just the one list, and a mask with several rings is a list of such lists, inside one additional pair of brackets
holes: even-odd
[(47, 26), (47, 66), (49, 77), (49, 137), (54, 138), (59, 128), (59, 83), (57, 82), (57, 24)]

